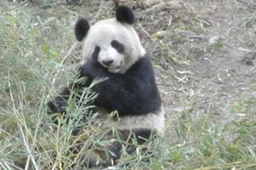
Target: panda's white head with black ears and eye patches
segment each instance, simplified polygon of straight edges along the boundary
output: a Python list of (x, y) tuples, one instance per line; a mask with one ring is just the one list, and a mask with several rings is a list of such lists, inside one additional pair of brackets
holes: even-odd
[(97, 61), (108, 71), (123, 74), (145, 54), (133, 29), (132, 9), (120, 6), (116, 18), (100, 20), (90, 27), (84, 18), (75, 25), (78, 41), (83, 41), (83, 63)]

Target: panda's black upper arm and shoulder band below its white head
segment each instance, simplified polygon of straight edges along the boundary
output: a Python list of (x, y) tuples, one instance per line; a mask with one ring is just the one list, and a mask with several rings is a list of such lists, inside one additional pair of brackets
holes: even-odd
[(94, 87), (99, 94), (96, 106), (117, 110), (120, 115), (147, 114), (158, 111), (161, 106), (153, 67), (147, 56), (140, 58), (125, 74), (110, 73), (97, 63), (87, 63), (80, 71), (92, 78), (109, 78)]

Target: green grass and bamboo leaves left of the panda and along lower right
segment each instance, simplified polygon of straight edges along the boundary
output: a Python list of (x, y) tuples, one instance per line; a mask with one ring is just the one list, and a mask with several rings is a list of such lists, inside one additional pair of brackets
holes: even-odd
[[(85, 91), (86, 108), (70, 101), (68, 113), (74, 118), (62, 126), (50, 122), (46, 102), (60, 87), (75, 79), (74, 56), (79, 54), (72, 22), (81, 7), (68, 4), (0, 3), (0, 169), (71, 169), (76, 156), (70, 153), (76, 142), (82, 151), (105, 145), (104, 132), (90, 124), (75, 121), (90, 114), (94, 94)], [(251, 86), (256, 91), (255, 84)], [(197, 110), (180, 113), (177, 121), (167, 120), (166, 135), (138, 146), (136, 153), (121, 158), (115, 167), (127, 169), (255, 169), (256, 100), (234, 103), (229, 113), (236, 117), (220, 125), (206, 113), (195, 118)], [(241, 116), (242, 115), (242, 116)], [(64, 121), (64, 120), (62, 120)], [(77, 137), (74, 127), (84, 127)], [(180, 143), (169, 138), (176, 129)], [(135, 141), (136, 144), (136, 141)], [(141, 151), (147, 147), (147, 155)], [(73, 169), (77, 169), (77, 164)]]

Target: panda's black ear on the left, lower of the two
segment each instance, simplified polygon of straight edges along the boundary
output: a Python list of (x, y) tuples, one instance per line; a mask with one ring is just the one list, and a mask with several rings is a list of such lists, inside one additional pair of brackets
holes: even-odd
[(80, 18), (78, 21), (76, 21), (76, 25), (75, 25), (76, 39), (78, 41), (82, 41), (89, 29), (90, 29), (90, 25), (86, 19)]

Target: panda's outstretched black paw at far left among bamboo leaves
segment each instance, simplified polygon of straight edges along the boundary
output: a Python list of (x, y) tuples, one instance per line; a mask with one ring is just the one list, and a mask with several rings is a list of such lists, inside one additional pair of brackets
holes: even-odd
[(64, 99), (59, 99), (58, 97), (54, 100), (47, 102), (47, 113), (54, 114), (54, 113), (65, 113), (67, 109), (68, 103)]

